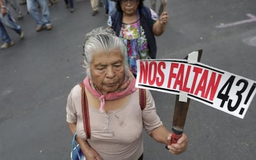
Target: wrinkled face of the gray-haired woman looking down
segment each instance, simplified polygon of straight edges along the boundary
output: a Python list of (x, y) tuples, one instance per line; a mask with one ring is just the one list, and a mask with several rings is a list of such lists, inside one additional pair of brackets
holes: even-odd
[(116, 91), (124, 80), (124, 59), (121, 51), (96, 53), (90, 64), (93, 84), (103, 95)]

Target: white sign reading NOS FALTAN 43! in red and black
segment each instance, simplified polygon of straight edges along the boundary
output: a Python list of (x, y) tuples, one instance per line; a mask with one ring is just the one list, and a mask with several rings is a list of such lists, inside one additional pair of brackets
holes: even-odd
[(175, 95), (187, 94), (208, 106), (244, 118), (256, 82), (224, 70), (184, 59), (137, 61), (136, 87)]

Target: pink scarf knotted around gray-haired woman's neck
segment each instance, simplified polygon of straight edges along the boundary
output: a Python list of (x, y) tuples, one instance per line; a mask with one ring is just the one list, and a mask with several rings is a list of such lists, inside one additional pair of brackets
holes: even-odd
[(115, 92), (108, 93), (107, 95), (102, 95), (100, 91), (97, 90), (95, 86), (93, 86), (92, 80), (90, 80), (87, 77), (83, 80), (83, 83), (85, 84), (85, 87), (87, 88), (90, 93), (93, 94), (96, 98), (100, 99), (100, 111), (101, 113), (104, 111), (105, 106), (105, 99), (106, 100), (114, 100), (119, 98), (124, 98), (127, 95), (130, 95), (131, 93), (134, 93), (138, 88), (135, 88), (135, 82), (136, 79), (134, 78), (134, 75), (129, 72), (127, 76), (124, 78), (124, 82), (122, 85), (117, 89)]

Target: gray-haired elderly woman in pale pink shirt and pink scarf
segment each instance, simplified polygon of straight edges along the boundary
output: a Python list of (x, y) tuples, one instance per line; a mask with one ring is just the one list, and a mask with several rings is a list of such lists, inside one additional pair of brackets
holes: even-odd
[[(110, 28), (96, 28), (87, 34), (83, 49), (87, 77), (70, 91), (66, 111), (70, 132), (77, 133), (76, 141), (86, 159), (142, 159), (143, 127), (153, 139), (168, 144), (171, 133), (156, 114), (150, 91), (146, 90), (145, 108), (140, 107), (139, 90), (121, 38)], [(87, 122), (81, 103), (83, 85)], [(173, 154), (186, 148), (186, 135), (168, 146)]]

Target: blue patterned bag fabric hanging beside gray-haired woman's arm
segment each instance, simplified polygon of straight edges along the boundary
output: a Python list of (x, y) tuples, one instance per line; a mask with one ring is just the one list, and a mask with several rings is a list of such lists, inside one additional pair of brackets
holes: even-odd
[(77, 137), (77, 133), (75, 133), (73, 138), (72, 138), (70, 158), (71, 158), (71, 160), (84, 160), (85, 156), (83, 155), (79, 144), (77, 144), (75, 142), (75, 137)]

